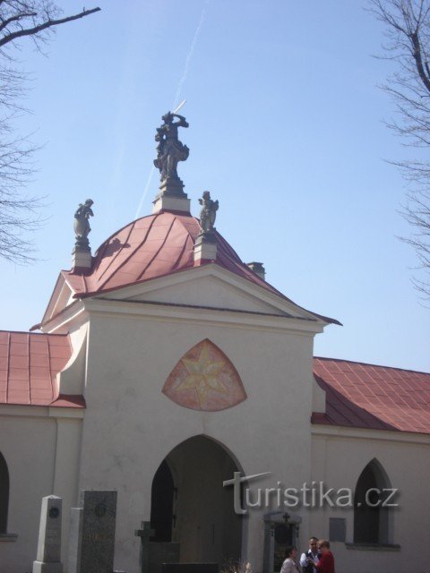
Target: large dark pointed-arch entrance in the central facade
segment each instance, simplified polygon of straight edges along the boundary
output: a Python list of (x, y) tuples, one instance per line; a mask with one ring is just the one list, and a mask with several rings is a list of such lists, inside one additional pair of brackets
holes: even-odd
[(228, 451), (205, 436), (185, 440), (168, 454), (152, 483), (150, 552), (157, 560), (240, 560), (242, 517), (234, 511), (233, 488), (222, 485), (235, 471)]

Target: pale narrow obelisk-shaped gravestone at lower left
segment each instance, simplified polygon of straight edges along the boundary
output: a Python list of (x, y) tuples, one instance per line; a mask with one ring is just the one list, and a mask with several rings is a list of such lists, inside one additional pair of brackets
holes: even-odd
[(33, 573), (63, 573), (61, 563), (62, 499), (48, 495), (42, 499), (40, 511), (38, 555)]

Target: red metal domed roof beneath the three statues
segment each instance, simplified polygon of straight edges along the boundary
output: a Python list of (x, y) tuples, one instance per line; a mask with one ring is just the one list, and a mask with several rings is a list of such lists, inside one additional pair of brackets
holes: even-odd
[(99, 247), (86, 274), (73, 270), (62, 274), (75, 296), (82, 298), (214, 262), (283, 296), (249, 269), (219, 233), (215, 233), (216, 260), (195, 263), (193, 247), (199, 233), (199, 221), (189, 213), (161, 211), (139, 218), (110, 236)]

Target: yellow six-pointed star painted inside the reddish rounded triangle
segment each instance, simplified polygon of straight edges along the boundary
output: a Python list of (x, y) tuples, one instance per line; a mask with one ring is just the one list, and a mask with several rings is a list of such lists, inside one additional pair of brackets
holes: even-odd
[(200, 406), (203, 408), (208, 392), (211, 390), (220, 394), (227, 394), (224, 384), (219, 380), (219, 372), (226, 365), (225, 362), (213, 362), (209, 355), (209, 347), (203, 344), (201, 353), (197, 360), (183, 358), (182, 363), (189, 372), (188, 376), (177, 387), (178, 392), (194, 389), (199, 398)]

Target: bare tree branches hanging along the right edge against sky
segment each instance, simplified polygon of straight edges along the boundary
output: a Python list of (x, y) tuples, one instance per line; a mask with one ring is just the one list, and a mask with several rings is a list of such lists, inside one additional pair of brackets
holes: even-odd
[[(370, 12), (385, 24), (384, 57), (397, 63), (382, 88), (393, 99), (400, 121), (387, 125), (405, 144), (430, 150), (430, 0), (370, 0)], [(430, 273), (430, 161), (391, 163), (412, 184), (400, 211), (411, 235), (401, 240), (417, 253), (419, 268)], [(413, 278), (413, 283), (430, 300), (430, 282)]]

